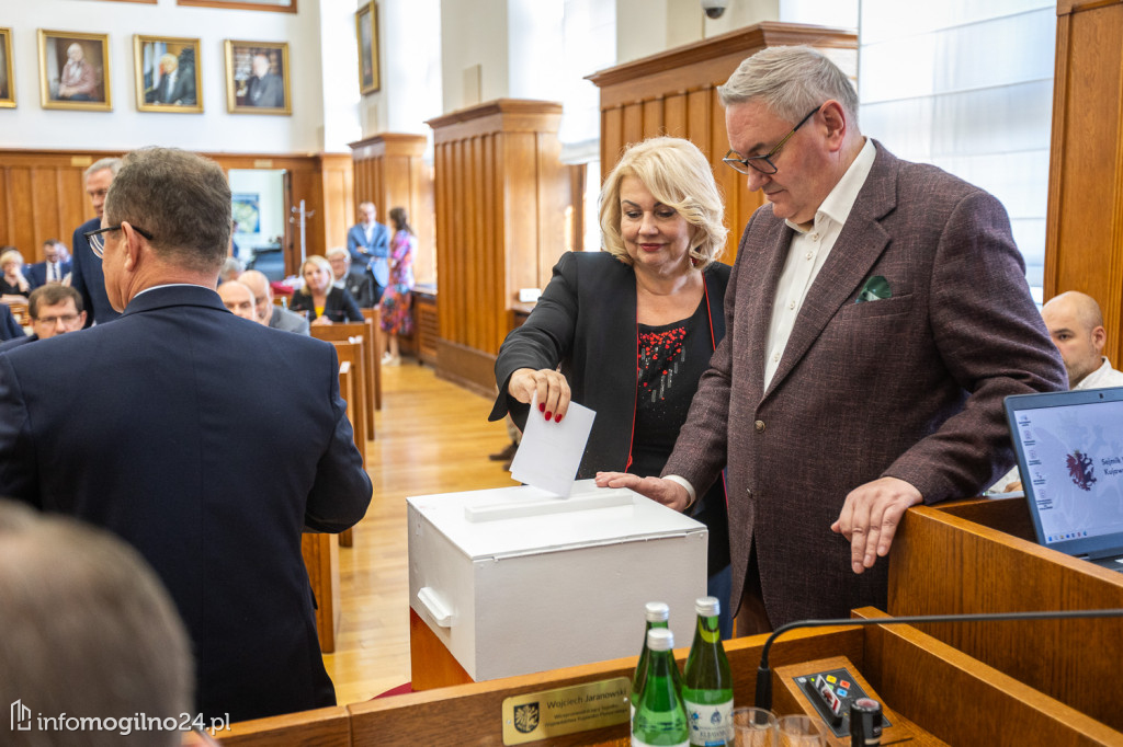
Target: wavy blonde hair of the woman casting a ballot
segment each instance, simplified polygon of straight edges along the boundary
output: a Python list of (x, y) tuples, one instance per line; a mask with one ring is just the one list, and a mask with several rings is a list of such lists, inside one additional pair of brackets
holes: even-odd
[(673, 208), (691, 224), (690, 255), (705, 269), (725, 247), (729, 232), (722, 223), (725, 208), (713, 179), (713, 169), (690, 140), (659, 137), (624, 150), (601, 187), (601, 237), (604, 250), (631, 265), (620, 234), (620, 183), (634, 176), (660, 203)]

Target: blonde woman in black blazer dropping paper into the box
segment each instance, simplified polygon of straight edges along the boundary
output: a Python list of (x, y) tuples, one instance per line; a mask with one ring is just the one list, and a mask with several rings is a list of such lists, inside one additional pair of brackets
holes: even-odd
[[(658, 477), (699, 379), (725, 332), (730, 268), (723, 206), (705, 156), (688, 140), (629, 148), (601, 191), (605, 251), (566, 252), (527, 322), (495, 360), (508, 413), (560, 421), (570, 400), (596, 412), (578, 478)], [(557, 370), (560, 366), (560, 370)], [(529, 404), (537, 395), (536, 413)], [(700, 486), (706, 487), (706, 486)], [(729, 519), (721, 480), (687, 507), (710, 529), (710, 593), (731, 630)]]

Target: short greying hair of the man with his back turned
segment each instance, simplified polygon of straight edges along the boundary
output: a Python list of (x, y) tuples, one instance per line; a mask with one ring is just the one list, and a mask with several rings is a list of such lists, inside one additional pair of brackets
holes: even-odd
[(230, 247), (230, 185), (213, 160), (177, 148), (127, 154), (109, 194), (106, 221), (153, 236), (153, 252), (198, 273), (218, 273)]

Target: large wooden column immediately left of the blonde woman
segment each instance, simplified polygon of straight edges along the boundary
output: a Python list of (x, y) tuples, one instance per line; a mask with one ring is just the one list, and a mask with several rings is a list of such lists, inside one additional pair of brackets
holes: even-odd
[(429, 120), (436, 142), (437, 374), (492, 396), (519, 288), (565, 249), (562, 104), (501, 99)]

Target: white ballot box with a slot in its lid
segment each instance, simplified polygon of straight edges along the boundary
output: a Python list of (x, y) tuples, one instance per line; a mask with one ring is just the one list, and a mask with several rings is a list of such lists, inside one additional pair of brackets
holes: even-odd
[(678, 511), (592, 480), (407, 502), (410, 606), (477, 682), (638, 655), (649, 601), (693, 639), (707, 536)]

